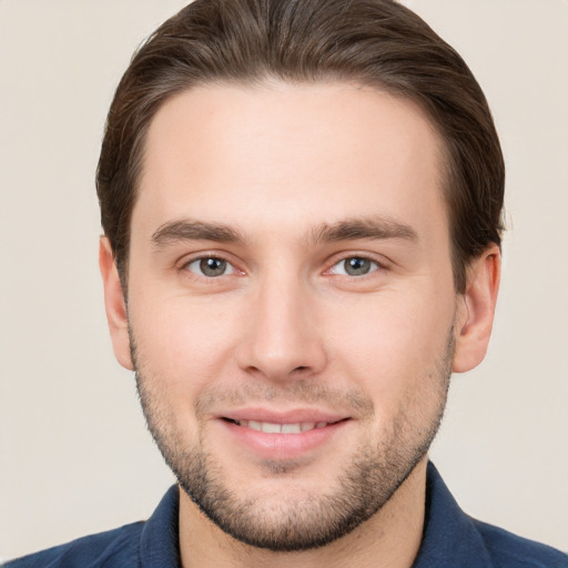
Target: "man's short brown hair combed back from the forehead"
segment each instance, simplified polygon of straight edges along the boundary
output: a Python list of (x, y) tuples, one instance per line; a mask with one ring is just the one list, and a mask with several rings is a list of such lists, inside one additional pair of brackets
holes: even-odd
[(505, 166), (464, 60), (393, 0), (195, 0), (134, 54), (112, 102), (97, 172), (102, 226), (126, 284), (145, 134), (166, 99), (212, 82), (348, 81), (417, 102), (443, 135), (455, 287), (500, 244)]

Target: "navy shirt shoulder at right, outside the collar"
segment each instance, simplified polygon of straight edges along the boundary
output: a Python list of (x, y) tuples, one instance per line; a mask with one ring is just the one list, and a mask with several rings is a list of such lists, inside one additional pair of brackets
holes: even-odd
[(495, 568), (568, 568), (568, 555), (560, 550), (473, 520)]

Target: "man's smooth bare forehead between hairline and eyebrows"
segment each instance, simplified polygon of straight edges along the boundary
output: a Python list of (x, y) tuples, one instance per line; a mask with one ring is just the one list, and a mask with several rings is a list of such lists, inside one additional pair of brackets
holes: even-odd
[(297, 230), (301, 220), (307, 229), (428, 212), (446, 224), (442, 148), (417, 104), (373, 89), (195, 88), (168, 100), (150, 125), (133, 225), (153, 231), (187, 216)]

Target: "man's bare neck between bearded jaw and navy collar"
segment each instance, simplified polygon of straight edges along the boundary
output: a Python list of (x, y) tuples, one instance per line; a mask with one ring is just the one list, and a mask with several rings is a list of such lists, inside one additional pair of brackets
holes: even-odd
[(233, 539), (211, 523), (180, 489), (183, 568), (409, 568), (418, 552), (425, 514), (427, 458), (415, 467), (385, 506), (331, 545), (302, 552), (272, 552)]

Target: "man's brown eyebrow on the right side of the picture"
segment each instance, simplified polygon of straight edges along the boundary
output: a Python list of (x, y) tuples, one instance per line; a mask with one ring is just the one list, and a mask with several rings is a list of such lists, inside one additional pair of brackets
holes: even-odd
[(312, 236), (315, 243), (355, 241), (357, 239), (418, 240), (418, 234), (410, 225), (383, 216), (354, 217), (332, 224), (324, 223), (313, 231)]

